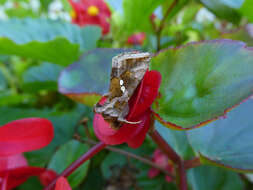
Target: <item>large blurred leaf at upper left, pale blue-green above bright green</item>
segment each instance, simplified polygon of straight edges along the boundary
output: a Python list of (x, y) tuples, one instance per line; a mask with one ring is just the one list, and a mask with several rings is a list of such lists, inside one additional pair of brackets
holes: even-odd
[(100, 29), (48, 19), (10, 19), (0, 22), (0, 53), (60, 65), (76, 61), (96, 47)]

